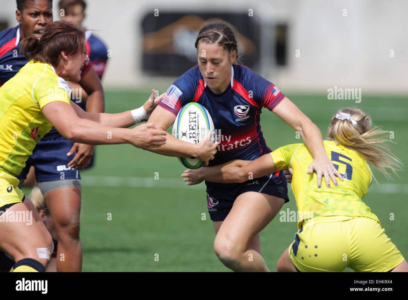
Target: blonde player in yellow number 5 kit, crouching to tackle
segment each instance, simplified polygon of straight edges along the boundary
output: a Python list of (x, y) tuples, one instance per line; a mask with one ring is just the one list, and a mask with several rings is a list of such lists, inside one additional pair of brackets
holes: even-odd
[[(202, 180), (245, 182), (292, 168), (292, 189), (299, 214), (295, 241), (284, 251), (277, 271), (339, 272), (346, 267), (360, 272), (408, 271), (408, 263), (384, 233), (377, 216), (362, 202), (373, 174), (367, 161), (389, 177), (401, 162), (384, 144), (388, 131), (371, 127), (359, 109), (343, 109), (332, 118), (324, 141), (343, 180), (316, 186), (317, 175), (308, 171), (313, 157), (305, 144), (290, 144), (253, 160), (234, 160), (216, 167), (186, 170), (187, 184)], [(332, 182), (333, 184), (333, 182)], [(234, 208), (233, 208), (234, 209)]]

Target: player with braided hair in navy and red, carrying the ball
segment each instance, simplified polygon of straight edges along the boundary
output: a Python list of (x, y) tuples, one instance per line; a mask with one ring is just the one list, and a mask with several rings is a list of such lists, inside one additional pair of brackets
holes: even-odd
[[(171, 85), (149, 122), (167, 129), (182, 106), (198, 102), (213, 118), (216, 140), (220, 144), (214, 143), (210, 155), (203, 155), (201, 145), (183, 142), (168, 134), (166, 145), (151, 151), (168, 156), (193, 156), (206, 164), (213, 159), (209, 165), (233, 159), (254, 160), (271, 152), (259, 123), (261, 109), (266, 107), (300, 132), (315, 158), (308, 172), (317, 172), (319, 185), (322, 176), (327, 183), (329, 176), (333, 182), (336, 182), (335, 175), (341, 177), (324, 151), (317, 126), (273, 83), (245, 66), (234, 64), (238, 49), (231, 24), (218, 20), (207, 22), (198, 33), (195, 47), (198, 65)], [(268, 271), (260, 254), (259, 232), (289, 200), (284, 171), (242, 184), (206, 181), (206, 186), (218, 258), (234, 271)], [(250, 252), (253, 261), (248, 261)]]

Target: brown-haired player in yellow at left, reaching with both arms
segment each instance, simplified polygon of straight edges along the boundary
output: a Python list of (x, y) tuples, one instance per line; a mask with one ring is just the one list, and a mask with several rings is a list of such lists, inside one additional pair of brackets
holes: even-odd
[[(129, 127), (146, 119), (144, 109), (123, 113), (87, 113), (69, 100), (65, 80), (78, 82), (86, 56), (84, 32), (65, 21), (53, 22), (40, 40), (28, 37), (21, 50), (29, 63), (0, 87), (0, 218), (29, 208), (16, 176), (35, 144), (54, 126), (65, 138), (87, 144), (130, 143), (148, 149), (166, 142), (153, 124)], [(33, 218), (40, 220), (35, 209)], [(44, 271), (52, 247), (50, 234), (33, 222), (0, 222), (0, 249), (15, 261), (14, 271)]]

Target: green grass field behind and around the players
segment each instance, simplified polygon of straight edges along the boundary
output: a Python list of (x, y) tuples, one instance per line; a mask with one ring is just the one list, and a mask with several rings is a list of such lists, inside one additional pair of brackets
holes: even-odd
[[(149, 90), (106, 91), (106, 112), (139, 107)], [(287, 94), (326, 138), (330, 118), (340, 107), (358, 107), (375, 125), (394, 132), (396, 155), (407, 161), (406, 97), (364, 96), (328, 100), (326, 95)], [(271, 149), (301, 142), (295, 131), (264, 109), (262, 131)], [(96, 151), (95, 167), (82, 171), (81, 239), (83, 271), (230, 271), (213, 250), (214, 229), (207, 211), (204, 183), (188, 187), (180, 177), (184, 167), (173, 157), (160, 156), (131, 145), (103, 145)], [(159, 180), (154, 180), (158, 172)], [(394, 181), (378, 171), (364, 201), (375, 213), (404, 257), (408, 257), (406, 216), (408, 185), (404, 172)], [(118, 178), (120, 177), (120, 178)], [(383, 184), (393, 184), (384, 188)], [(290, 202), (282, 210), (297, 210)], [(108, 220), (111, 213), (112, 220)], [(202, 220), (202, 213), (206, 220)], [(394, 220), (390, 220), (390, 213)], [(293, 241), (296, 222), (278, 216), (261, 233), (262, 256), (271, 271)], [(155, 261), (158, 254), (158, 261)], [(346, 269), (346, 271), (352, 271)]]

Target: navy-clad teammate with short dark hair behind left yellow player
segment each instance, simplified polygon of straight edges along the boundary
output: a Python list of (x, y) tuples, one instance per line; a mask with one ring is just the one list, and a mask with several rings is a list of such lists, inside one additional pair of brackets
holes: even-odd
[[(20, 53), (20, 41), (28, 36), (40, 38), (44, 29), (53, 20), (51, 0), (17, 0), (16, 19), (18, 26), (0, 32), (0, 86), (22, 68), (28, 61)], [(102, 84), (92, 64), (87, 60), (82, 66), (80, 85), (72, 94), (82, 88), (82, 101), (86, 111), (104, 111)], [(73, 83), (71, 83), (73, 84)], [(71, 94), (71, 95), (72, 95)], [(1, 100), (2, 101), (2, 100)], [(145, 106), (151, 106), (148, 101)], [(65, 261), (58, 261), (59, 271), (80, 271), (82, 268), (82, 246), (79, 236), (81, 185), (79, 169), (86, 167), (93, 156), (93, 145), (73, 143), (52, 128), (35, 147), (33, 155), (26, 162), (18, 179), (19, 186), (26, 178), (32, 186), (35, 178), (51, 211), (60, 240), (60, 253)], [(75, 153), (76, 152), (76, 153)], [(69, 155), (67, 155), (67, 153)], [(73, 157), (72, 154), (75, 153)], [(31, 168), (31, 171), (30, 171)], [(29, 172), (30, 171), (30, 172)], [(30, 175), (31, 174), (31, 175)]]

